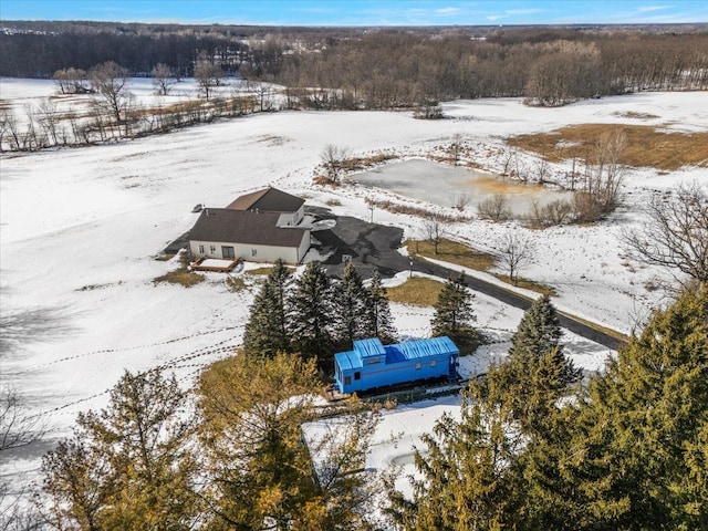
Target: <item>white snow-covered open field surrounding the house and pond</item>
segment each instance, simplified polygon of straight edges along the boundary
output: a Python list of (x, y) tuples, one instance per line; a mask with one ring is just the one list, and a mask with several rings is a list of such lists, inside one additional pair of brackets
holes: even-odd
[[(53, 90), (46, 81), (0, 81), (6, 101), (48, 96)], [(154, 96), (146, 91), (144, 97)], [(498, 148), (512, 134), (587, 122), (708, 131), (706, 93), (637, 94), (554, 110), (525, 107), (517, 98), (458, 101), (444, 110), (449, 118), (436, 122), (414, 119), (410, 113), (257, 114), (117, 144), (3, 154), (0, 308), (3, 317), (37, 319), (32, 331), (2, 353), (2, 384), (17, 388), (31, 414), (45, 418), (50, 439), (65, 435), (77, 412), (104, 406), (106, 391), (125, 369), (164, 366), (188, 385), (200, 367), (240, 343), (254, 289), (232, 293), (221, 273), (207, 273), (207, 282), (190, 289), (155, 284), (153, 279), (177, 264), (154, 257), (191, 228), (195, 204), (223, 207), (266, 185), (302, 195), (311, 205), (336, 200), (335, 214), (368, 219), (371, 190), (312, 185), (326, 144), (348, 147), (353, 155), (385, 149), (415, 157), (461, 134), (475, 160), (493, 171), (501, 165)], [(658, 117), (629, 118), (627, 113)], [(625, 206), (594, 227), (531, 231), (470, 221), (454, 232), (489, 250), (508, 231), (527, 232), (537, 252), (524, 277), (555, 287), (558, 308), (629, 331), (659, 294), (645, 288), (656, 271), (632, 268), (622, 258), (618, 233), (642, 222), (637, 207), (652, 190), (693, 180), (708, 183), (708, 169), (632, 170)], [(416, 218), (376, 210), (374, 220), (403, 227), (406, 237), (423, 237)], [(483, 366), (503, 354), (521, 312), (481, 295), (477, 300), (478, 322), (496, 342), (467, 363)], [(393, 311), (402, 334), (429, 332), (428, 310), (394, 305)], [(576, 364), (587, 369), (601, 368), (610, 354), (576, 336), (565, 340)], [(400, 446), (397, 451), (408, 452)], [(39, 452), (25, 457), (6, 460), (0, 473), (19, 478), (35, 471)]]

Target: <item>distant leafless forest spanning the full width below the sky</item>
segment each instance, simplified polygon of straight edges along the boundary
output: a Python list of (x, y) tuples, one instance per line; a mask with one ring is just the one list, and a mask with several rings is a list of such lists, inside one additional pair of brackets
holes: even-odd
[[(114, 61), (306, 90), (319, 108), (397, 108), (522, 96), (538, 105), (634, 91), (708, 88), (708, 27), (256, 28), (3, 22), (0, 75), (51, 77)], [(313, 90), (317, 87), (317, 90)], [(322, 88), (321, 91), (319, 88)], [(302, 92), (300, 96), (302, 96)]]

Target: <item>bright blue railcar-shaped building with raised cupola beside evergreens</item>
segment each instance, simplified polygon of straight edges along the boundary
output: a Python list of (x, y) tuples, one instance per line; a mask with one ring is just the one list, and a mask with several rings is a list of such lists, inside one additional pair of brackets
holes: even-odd
[(354, 342), (334, 355), (334, 385), (357, 393), (419, 379), (457, 378), (460, 351), (447, 336), (384, 345), (377, 337)]

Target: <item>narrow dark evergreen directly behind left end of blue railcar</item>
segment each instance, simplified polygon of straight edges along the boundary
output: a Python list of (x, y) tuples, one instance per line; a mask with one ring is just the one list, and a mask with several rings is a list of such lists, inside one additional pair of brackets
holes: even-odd
[(334, 339), (340, 348), (351, 350), (354, 340), (366, 337), (365, 316), (371, 308), (368, 291), (351, 261), (344, 267), (342, 280), (334, 284), (333, 299)]

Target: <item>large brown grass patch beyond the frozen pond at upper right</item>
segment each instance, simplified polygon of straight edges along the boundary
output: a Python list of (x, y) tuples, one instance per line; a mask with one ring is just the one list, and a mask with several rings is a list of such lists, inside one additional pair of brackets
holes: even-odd
[(558, 163), (573, 157), (583, 159), (596, 140), (617, 128), (627, 137), (623, 156), (626, 165), (669, 171), (683, 166), (708, 167), (708, 133), (666, 133), (646, 125), (571, 125), (550, 133), (514, 136), (507, 143)]

